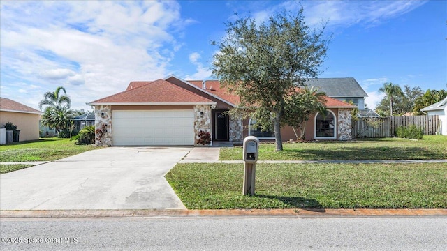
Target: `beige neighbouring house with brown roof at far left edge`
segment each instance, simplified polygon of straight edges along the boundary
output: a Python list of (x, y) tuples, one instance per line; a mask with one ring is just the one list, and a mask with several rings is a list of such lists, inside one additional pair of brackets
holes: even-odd
[(0, 127), (10, 122), (20, 130), (19, 141), (39, 139), (39, 118), (42, 112), (15, 102), (9, 98), (0, 98)]

